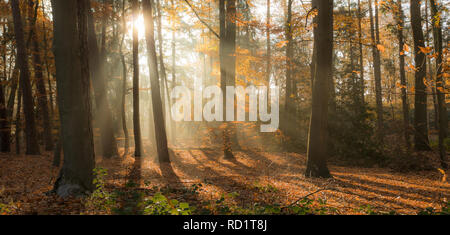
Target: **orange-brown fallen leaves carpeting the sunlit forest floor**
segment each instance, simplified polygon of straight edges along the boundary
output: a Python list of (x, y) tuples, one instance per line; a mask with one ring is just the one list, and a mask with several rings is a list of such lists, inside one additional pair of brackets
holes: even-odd
[[(130, 180), (149, 194), (163, 192), (169, 199), (201, 207), (223, 195), (230, 205), (255, 203), (291, 205), (308, 198), (326, 201), (335, 214), (367, 214), (370, 210), (417, 214), (441, 208), (450, 198), (450, 185), (439, 171), (396, 173), (382, 168), (330, 166), (332, 179), (303, 176), (306, 158), (296, 153), (245, 150), (225, 160), (215, 149), (175, 149), (171, 164), (131, 154), (98, 159), (107, 170), (105, 187), (124, 188)], [(0, 205), (3, 214), (91, 214), (83, 198), (47, 195), (58, 175), (51, 153), (41, 156), (0, 155)], [(370, 206), (370, 207), (368, 207)], [(4, 206), (6, 208), (6, 206)], [(366, 209), (364, 209), (366, 208)], [(0, 208), (1, 209), (1, 208)]]

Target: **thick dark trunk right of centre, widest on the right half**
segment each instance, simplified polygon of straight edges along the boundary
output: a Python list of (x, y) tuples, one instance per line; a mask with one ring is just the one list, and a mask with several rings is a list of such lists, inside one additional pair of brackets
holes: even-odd
[(308, 136), (308, 153), (305, 176), (331, 177), (326, 164), (328, 141), (329, 80), (332, 77), (333, 57), (333, 0), (316, 1), (317, 48), (312, 112)]

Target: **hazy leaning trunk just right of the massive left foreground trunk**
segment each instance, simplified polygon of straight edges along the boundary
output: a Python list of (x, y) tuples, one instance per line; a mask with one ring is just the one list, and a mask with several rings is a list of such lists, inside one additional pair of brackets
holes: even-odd
[[(90, 1), (88, 1), (90, 6)], [(102, 27), (105, 27), (103, 23)], [(103, 32), (104, 33), (104, 32)], [(103, 37), (103, 36), (102, 36)], [(102, 42), (105, 39), (102, 38)], [(112, 112), (106, 97), (106, 53), (105, 44), (101, 44), (101, 51), (97, 45), (95, 35), (94, 18), (89, 8), (88, 10), (88, 43), (89, 43), (89, 66), (91, 69), (92, 87), (95, 94), (95, 106), (97, 112), (95, 119), (100, 129), (100, 138), (102, 143), (102, 154), (105, 158), (118, 156), (116, 138), (114, 137), (114, 128), (112, 122)]]

